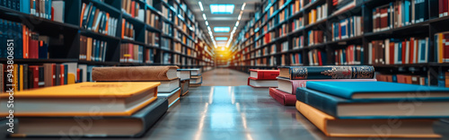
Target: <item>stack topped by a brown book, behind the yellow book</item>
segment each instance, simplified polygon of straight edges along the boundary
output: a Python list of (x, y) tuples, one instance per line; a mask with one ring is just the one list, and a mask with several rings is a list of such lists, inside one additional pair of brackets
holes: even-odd
[(178, 66), (94, 67), (92, 80), (97, 82), (159, 82), (157, 96), (167, 98), (169, 108), (180, 100)]

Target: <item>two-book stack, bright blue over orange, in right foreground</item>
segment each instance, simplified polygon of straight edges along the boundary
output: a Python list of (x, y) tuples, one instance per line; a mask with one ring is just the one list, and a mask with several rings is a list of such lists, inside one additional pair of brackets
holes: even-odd
[(386, 82), (307, 82), (296, 109), (326, 136), (438, 138), (449, 89)]

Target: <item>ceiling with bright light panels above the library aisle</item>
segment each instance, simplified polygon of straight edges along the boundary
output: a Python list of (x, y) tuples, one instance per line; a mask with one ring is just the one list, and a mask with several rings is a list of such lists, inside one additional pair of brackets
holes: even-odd
[[(245, 9), (242, 13), (241, 21), (234, 33), (237, 36), (237, 33), (242, 29), (244, 23), (250, 20), (250, 13), (254, 12), (254, 6), (256, 3), (260, 3), (260, 0), (201, 0), (203, 4), (204, 11), (201, 11), (198, 5), (198, 1), (200, 0), (185, 0), (193, 13), (195, 13), (195, 18), (198, 21), (199, 28), (204, 31), (204, 34), (210, 39), (209, 34), (207, 33), (207, 25), (205, 20), (203, 19), (203, 13), (206, 13), (207, 22), (212, 30), (214, 37), (226, 37), (230, 38), (231, 31), (233, 31), (233, 27), (235, 26), (235, 22), (238, 20), (238, 16), (242, 11), (242, 4), (246, 3)], [(235, 8), (233, 10), (233, 14), (212, 14), (210, 12), (209, 4), (234, 4)], [(230, 27), (231, 31), (229, 32), (214, 32), (214, 27)], [(234, 39), (236, 37), (233, 37)], [(218, 47), (222, 47), (225, 45), (220, 45), (222, 43), (226, 44), (228, 40), (218, 41), (216, 40), (216, 44)]]

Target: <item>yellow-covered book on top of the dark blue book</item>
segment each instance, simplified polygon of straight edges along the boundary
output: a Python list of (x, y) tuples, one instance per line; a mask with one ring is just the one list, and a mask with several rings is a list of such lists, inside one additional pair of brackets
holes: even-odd
[[(130, 116), (157, 99), (158, 82), (75, 83), (14, 92), (14, 117)], [(0, 94), (0, 116), (9, 95)]]

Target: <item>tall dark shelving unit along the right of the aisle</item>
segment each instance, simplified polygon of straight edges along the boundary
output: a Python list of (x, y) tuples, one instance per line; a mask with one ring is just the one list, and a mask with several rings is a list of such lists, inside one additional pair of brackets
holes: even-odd
[[(311, 66), (309, 64), (308, 52), (313, 49), (319, 49), (326, 52), (326, 64), (323, 66), (335, 66), (334, 50), (346, 48), (348, 45), (360, 45), (363, 49), (363, 61), (361, 65), (368, 64), (368, 44), (372, 40), (382, 39), (408, 39), (410, 37), (428, 37), (428, 54), (427, 63), (417, 64), (403, 64), (403, 65), (373, 65), (376, 72), (380, 73), (393, 73), (393, 74), (420, 74), (425, 75), (428, 79), (429, 85), (437, 84), (437, 74), (448, 72), (449, 65), (447, 63), (437, 63), (436, 61), (436, 47), (434, 35), (438, 32), (449, 31), (447, 23), (449, 23), (449, 16), (438, 17), (438, 9), (432, 9), (431, 4), (437, 4), (436, 0), (427, 0), (427, 20), (418, 23), (411, 23), (399, 28), (392, 28), (386, 31), (373, 31), (373, 9), (384, 4), (394, 2), (394, 0), (377, 1), (377, 0), (359, 0), (354, 7), (351, 7), (340, 13), (333, 13), (337, 10), (336, 6), (332, 5), (332, 0), (314, 0), (309, 3), (308, 0), (304, 0), (304, 6), (300, 9), (296, 9), (297, 13), (292, 13), (290, 7), (291, 4), (295, 4), (299, 0), (262, 0), (260, 4), (256, 4), (255, 13), (250, 13), (251, 20), (244, 23), (242, 30), (236, 34), (236, 38), (232, 41), (231, 46), (232, 56), (230, 67), (242, 72), (249, 73), (249, 69), (276, 69), (277, 66), (290, 66), (291, 54), (301, 54), (303, 66)], [(436, 3), (435, 3), (436, 2)], [(283, 5), (279, 5), (283, 4)], [(316, 9), (317, 6), (327, 4), (327, 16), (321, 20), (317, 20), (313, 23), (308, 23), (308, 12), (312, 9)], [(269, 10), (275, 7), (275, 11), (271, 13)], [(322, 8), (322, 7), (321, 7)], [(282, 11), (287, 10), (288, 16), (284, 21), (280, 21), (279, 14)], [(436, 11), (436, 12), (435, 12)], [(271, 13), (271, 14), (269, 14)], [(266, 16), (269, 14), (269, 16)], [(358, 36), (352, 36), (346, 39), (332, 40), (332, 23), (339, 22), (352, 16), (361, 16), (363, 24), (363, 33)], [(301, 28), (293, 29), (292, 23), (294, 20), (303, 17), (303, 26)], [(275, 21), (274, 24), (272, 24)], [(269, 25), (268, 30), (264, 31), (264, 26)], [(282, 24), (286, 24), (287, 32), (286, 36), (278, 38), (279, 29)], [(307, 45), (308, 31), (319, 30), (323, 31), (323, 42), (319, 44)], [(261, 40), (264, 39), (265, 33), (269, 31), (275, 31), (276, 38), (272, 39), (268, 43), (260, 45)], [(303, 48), (295, 48), (293, 46), (294, 38), (303, 36), (304, 40)], [(265, 40), (263, 40), (265, 41)], [(287, 41), (288, 50), (282, 51), (280, 45)], [(259, 44), (259, 46), (257, 45)], [(256, 57), (258, 50), (264, 48), (270, 48), (272, 44), (276, 44), (277, 50), (275, 53), (270, 53), (268, 49), (267, 56)], [(284, 56), (284, 59), (282, 57)], [(257, 66), (257, 62), (260, 59), (267, 59), (274, 61), (275, 65), (261, 64)], [(285, 64), (282, 64), (282, 61)], [(269, 62), (267, 62), (269, 63)]]

